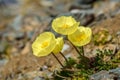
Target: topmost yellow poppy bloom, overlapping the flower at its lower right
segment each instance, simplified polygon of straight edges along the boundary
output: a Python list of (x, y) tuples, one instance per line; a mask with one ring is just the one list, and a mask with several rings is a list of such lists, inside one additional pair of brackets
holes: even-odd
[(61, 16), (56, 18), (52, 22), (52, 28), (63, 35), (69, 35), (74, 33), (79, 26), (79, 22), (77, 22), (72, 16)]

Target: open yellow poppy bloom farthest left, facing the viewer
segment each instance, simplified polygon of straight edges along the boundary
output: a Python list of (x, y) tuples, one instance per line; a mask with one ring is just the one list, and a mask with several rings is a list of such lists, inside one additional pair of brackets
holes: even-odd
[(55, 48), (55, 36), (51, 32), (40, 34), (32, 44), (33, 54), (37, 57), (47, 56)]

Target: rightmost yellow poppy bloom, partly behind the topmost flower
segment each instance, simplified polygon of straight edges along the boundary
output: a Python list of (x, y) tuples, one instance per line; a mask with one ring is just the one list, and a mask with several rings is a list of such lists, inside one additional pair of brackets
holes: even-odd
[(84, 46), (90, 42), (91, 36), (92, 31), (90, 28), (80, 26), (73, 34), (68, 35), (68, 39), (75, 46)]

